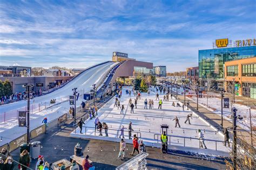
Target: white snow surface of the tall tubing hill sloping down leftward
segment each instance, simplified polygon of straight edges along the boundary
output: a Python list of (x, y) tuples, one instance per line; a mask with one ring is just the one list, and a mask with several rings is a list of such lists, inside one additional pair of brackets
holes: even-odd
[[(109, 72), (110, 69), (117, 63), (106, 63), (100, 66), (96, 66), (88, 71), (85, 71), (79, 76), (75, 77), (72, 81), (66, 84), (61, 89), (58, 89), (52, 93), (45, 94), (44, 96), (35, 98), (34, 104), (46, 102), (45, 105), (41, 105), (41, 111), (33, 112), (30, 114), (30, 130), (42, 125), (42, 120), (46, 116), (48, 122), (54, 120), (64, 113), (68, 113), (69, 110), (69, 95), (72, 95), (72, 88), (77, 87), (80, 92), (77, 105), (79, 106), (83, 100), (83, 91), (89, 92), (92, 89), (92, 85), (99, 85), (100, 81), (103, 80), (104, 74)], [(56, 99), (56, 104), (49, 105), (51, 99)], [(31, 100), (32, 101), (32, 100)], [(26, 106), (26, 101), (18, 101), (7, 105), (0, 106), (0, 114), (6, 111), (6, 113), (14, 113), (14, 118), (0, 123), (0, 137), (3, 137), (3, 141), (0, 146), (8, 143), (11, 139), (26, 133), (26, 127), (18, 127), (17, 110), (21, 111)], [(43, 109), (43, 110), (42, 110)]]

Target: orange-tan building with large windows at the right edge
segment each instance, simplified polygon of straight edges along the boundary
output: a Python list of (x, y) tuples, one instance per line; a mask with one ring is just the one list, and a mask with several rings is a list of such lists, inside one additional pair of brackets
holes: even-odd
[(237, 95), (256, 99), (256, 57), (225, 62), (224, 72), (226, 91), (234, 85)]

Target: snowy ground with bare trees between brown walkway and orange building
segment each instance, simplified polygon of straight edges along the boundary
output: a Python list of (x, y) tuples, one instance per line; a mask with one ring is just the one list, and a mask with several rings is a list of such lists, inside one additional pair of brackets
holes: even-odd
[[(173, 88), (173, 91), (176, 92), (176, 88)], [(190, 92), (192, 93), (192, 92)], [(178, 94), (184, 94), (184, 90), (178, 89)], [(193, 94), (193, 93), (192, 93)], [(215, 93), (214, 93), (215, 94)], [(215, 94), (216, 95), (216, 94)], [(196, 97), (191, 97), (188, 98), (191, 100), (194, 100), (194, 102), (197, 102)], [(198, 98), (198, 103), (200, 106), (207, 108), (207, 98)], [(208, 106), (211, 108), (207, 108), (208, 110), (214, 112), (215, 114), (218, 114), (221, 116), (221, 100), (220, 98), (212, 97), (208, 98)], [(242, 115), (244, 117), (243, 120), (238, 120), (238, 125), (244, 129), (244, 130), (250, 130), (250, 113), (248, 110), (248, 107), (245, 105), (239, 105), (239, 104), (234, 104), (233, 107), (237, 108), (238, 112), (237, 114)], [(232, 122), (231, 119), (231, 106), (230, 108), (223, 108), (223, 115), (224, 118), (230, 122)], [(252, 116), (252, 125), (256, 126), (256, 110), (251, 109), (251, 116)]]

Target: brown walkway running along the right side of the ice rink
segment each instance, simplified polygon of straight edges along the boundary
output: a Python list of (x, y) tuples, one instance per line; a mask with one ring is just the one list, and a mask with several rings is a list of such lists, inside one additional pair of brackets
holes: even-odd
[[(176, 95), (176, 93), (175, 93)], [(184, 96), (183, 95), (178, 95), (178, 99), (180, 101), (184, 101)], [(190, 101), (190, 106), (197, 109), (197, 103), (193, 100), (190, 100), (188, 98), (186, 98), (186, 100)], [(203, 106), (200, 106), (198, 105), (198, 111), (203, 113), (207, 118), (213, 120), (215, 123), (217, 124), (221, 124), (221, 117), (220, 115), (218, 114), (215, 114), (213, 113), (212, 111), (210, 110), (207, 110), (207, 108), (203, 107)], [(226, 119), (223, 118), (223, 127), (224, 128), (227, 128), (227, 127), (232, 127), (232, 123)], [(239, 126), (237, 127), (237, 136), (238, 138), (241, 138), (241, 139), (245, 139), (245, 141), (248, 142), (248, 144), (251, 145), (251, 134), (249, 132), (246, 132), (244, 130), (242, 130)], [(232, 133), (232, 131), (230, 131)], [(255, 142), (254, 142), (254, 139), (255, 139), (255, 133), (253, 133), (253, 146), (256, 146)]]

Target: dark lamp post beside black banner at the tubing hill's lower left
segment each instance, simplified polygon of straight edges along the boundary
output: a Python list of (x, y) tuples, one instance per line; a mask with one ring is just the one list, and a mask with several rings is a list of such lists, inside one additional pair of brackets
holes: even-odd
[(26, 94), (27, 94), (27, 97), (26, 97), (26, 101), (27, 101), (27, 105), (26, 105), (26, 144), (29, 146), (29, 143), (30, 143), (30, 88), (32, 88), (34, 85), (28, 85), (28, 84), (24, 84), (22, 87), (26, 88)]

